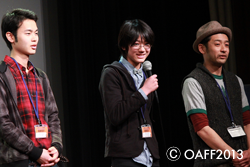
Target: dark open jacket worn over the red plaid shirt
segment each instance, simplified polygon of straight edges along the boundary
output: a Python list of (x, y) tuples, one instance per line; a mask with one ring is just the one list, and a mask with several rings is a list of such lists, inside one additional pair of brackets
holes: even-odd
[[(52, 145), (62, 151), (58, 109), (46, 74), (36, 68), (45, 96), (45, 121), (51, 129)], [(0, 164), (38, 159), (38, 148), (26, 135), (17, 108), (16, 83), (5, 62), (0, 63)]]

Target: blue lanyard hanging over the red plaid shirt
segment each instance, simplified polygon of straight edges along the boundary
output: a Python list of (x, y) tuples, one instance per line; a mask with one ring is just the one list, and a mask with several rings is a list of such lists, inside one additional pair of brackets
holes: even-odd
[[(11, 57), (11, 58), (12, 58), (12, 57)], [(24, 85), (25, 85), (25, 87), (26, 87), (26, 90), (27, 90), (27, 93), (28, 93), (28, 95), (29, 95), (30, 102), (31, 102), (31, 104), (32, 104), (32, 106), (33, 106), (33, 108), (34, 108), (34, 111), (35, 111), (35, 114), (36, 114), (38, 123), (39, 123), (39, 125), (41, 125), (42, 123), (41, 123), (41, 121), (40, 121), (40, 119), (39, 119), (39, 115), (38, 115), (38, 95), (37, 95), (36, 74), (34, 73), (34, 75), (35, 75), (35, 84), (36, 84), (36, 108), (35, 108), (34, 103), (33, 103), (33, 100), (32, 100), (32, 98), (31, 98), (31, 95), (30, 95), (30, 92), (29, 92), (29, 89), (28, 89), (27, 84), (26, 84), (26, 82), (25, 82), (25, 80), (24, 80), (23, 72), (21, 71), (21, 69), (20, 69), (18, 63), (16, 62), (16, 60), (15, 60), (14, 58), (12, 58), (12, 59), (15, 61), (16, 65), (17, 65), (17, 68), (18, 68), (19, 71), (20, 71), (20, 74), (21, 74), (22, 79), (23, 79), (23, 83), (24, 83)], [(31, 62), (30, 62), (30, 63), (31, 63)], [(32, 63), (31, 63), (31, 65), (32, 65), (33, 68), (34, 68), (34, 65), (33, 65)]]

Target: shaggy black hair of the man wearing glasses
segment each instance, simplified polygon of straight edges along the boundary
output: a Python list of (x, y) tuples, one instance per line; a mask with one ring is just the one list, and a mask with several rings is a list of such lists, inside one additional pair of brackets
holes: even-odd
[(129, 45), (133, 45), (139, 36), (151, 46), (153, 45), (154, 32), (144, 21), (139, 19), (124, 21), (118, 35), (118, 47), (123, 57), (127, 57)]

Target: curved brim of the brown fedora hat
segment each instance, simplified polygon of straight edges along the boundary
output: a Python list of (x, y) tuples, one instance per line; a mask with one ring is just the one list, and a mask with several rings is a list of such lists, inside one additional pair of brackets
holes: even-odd
[(206, 33), (202, 34), (199, 38), (197, 38), (194, 41), (194, 43), (193, 43), (193, 49), (194, 49), (194, 51), (200, 54), (200, 51), (198, 49), (199, 43), (201, 43), (201, 41), (203, 39), (205, 39), (206, 37), (214, 35), (214, 34), (218, 34), (218, 33), (226, 34), (228, 36), (228, 38), (229, 38), (229, 41), (232, 40), (232, 32), (227, 27), (221, 27), (221, 28), (218, 28), (216, 30), (210, 30), (210, 31), (207, 31)]

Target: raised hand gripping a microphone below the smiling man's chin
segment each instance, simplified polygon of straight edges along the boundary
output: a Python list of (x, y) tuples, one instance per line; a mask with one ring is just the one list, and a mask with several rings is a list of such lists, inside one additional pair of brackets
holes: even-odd
[(148, 95), (159, 87), (158, 79), (156, 74), (152, 75), (152, 64), (150, 61), (145, 61), (143, 63), (143, 69), (147, 72), (149, 78), (146, 79), (141, 89)]

